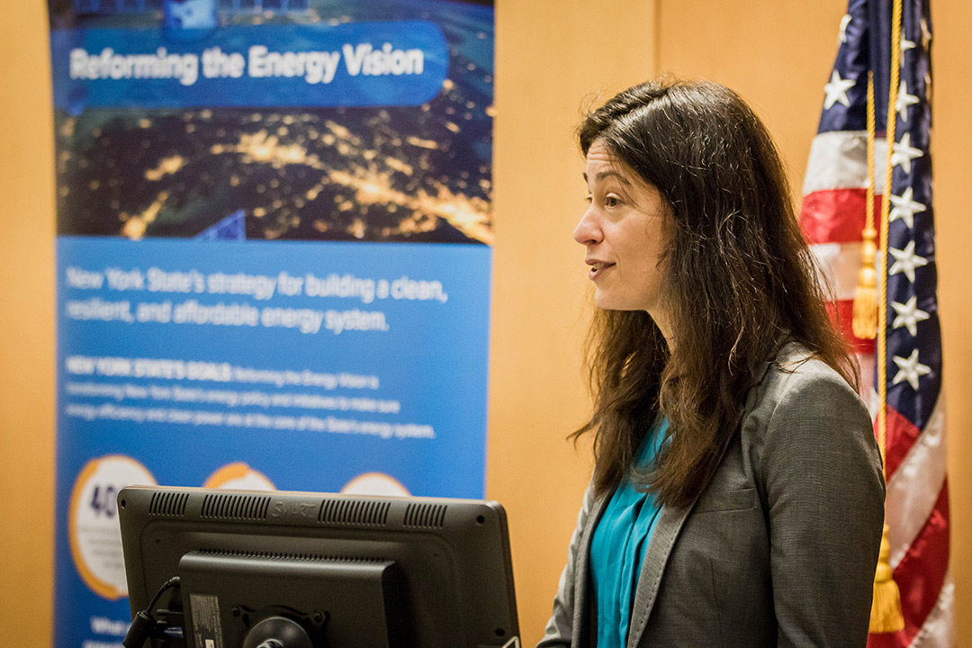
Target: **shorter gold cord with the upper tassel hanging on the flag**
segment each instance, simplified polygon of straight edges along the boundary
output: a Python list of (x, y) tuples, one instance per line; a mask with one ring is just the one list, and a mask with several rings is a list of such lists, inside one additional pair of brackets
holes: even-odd
[(867, 73), (867, 202), (864, 204), (860, 272), (853, 293), (851, 328), (855, 337), (873, 340), (878, 332), (878, 232), (874, 229), (874, 74)]

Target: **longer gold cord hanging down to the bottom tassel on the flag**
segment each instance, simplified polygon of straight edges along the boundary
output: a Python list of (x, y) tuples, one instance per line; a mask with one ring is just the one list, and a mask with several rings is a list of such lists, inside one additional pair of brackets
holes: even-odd
[[(901, 43), (901, 0), (894, 0), (891, 12), (891, 74), (888, 84), (887, 97), (887, 164), (885, 166), (885, 190), (881, 201), (881, 245), (878, 255), (878, 276), (881, 277), (878, 299), (878, 447), (881, 449), (881, 459), (885, 465), (885, 479), (887, 477), (887, 223), (890, 211), (891, 195), (891, 155), (894, 153), (894, 131), (897, 126), (895, 105), (898, 97), (899, 65)], [(894, 632), (905, 627), (904, 615), (901, 613), (901, 593), (894, 582), (890, 564), (890, 543), (887, 540), (887, 525), (881, 535), (881, 550), (878, 556), (878, 567), (874, 574), (874, 598), (871, 601), (871, 631)]]

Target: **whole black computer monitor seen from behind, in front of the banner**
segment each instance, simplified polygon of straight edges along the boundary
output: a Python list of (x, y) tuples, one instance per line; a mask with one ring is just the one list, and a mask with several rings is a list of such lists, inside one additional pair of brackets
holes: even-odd
[(497, 502), (143, 487), (118, 497), (156, 648), (519, 646)]

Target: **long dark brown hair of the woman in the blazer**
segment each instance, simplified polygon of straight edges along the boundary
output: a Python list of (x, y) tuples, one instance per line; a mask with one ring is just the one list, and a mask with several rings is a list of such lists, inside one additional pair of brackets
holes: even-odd
[(593, 432), (604, 494), (632, 470), (652, 420), (667, 417), (662, 451), (634, 474), (663, 504), (687, 505), (785, 340), (854, 386), (856, 368), (827, 316), (780, 153), (739, 95), (706, 82), (636, 85), (588, 114), (578, 140), (585, 155), (601, 140), (667, 203), (662, 299), (674, 340), (670, 348), (642, 311), (598, 311), (588, 338), (594, 412), (573, 436)]

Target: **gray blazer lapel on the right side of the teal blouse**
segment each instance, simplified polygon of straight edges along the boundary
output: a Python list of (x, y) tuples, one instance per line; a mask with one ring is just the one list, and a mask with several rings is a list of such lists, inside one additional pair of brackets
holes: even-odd
[(694, 506), (694, 501), (684, 508), (664, 506), (658, 514), (658, 524), (648, 541), (648, 549), (644, 552), (642, 561), (642, 573), (638, 578), (635, 604), (632, 607), (631, 623), (628, 627), (628, 648), (636, 648), (642, 640), (648, 616), (658, 596), (658, 587), (662, 582), (665, 564), (668, 563), (678, 533), (681, 532), (685, 519)]

